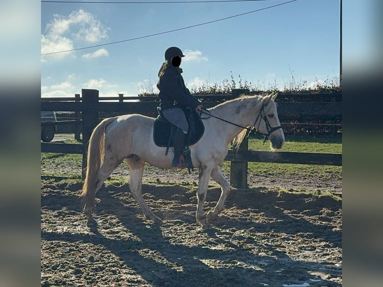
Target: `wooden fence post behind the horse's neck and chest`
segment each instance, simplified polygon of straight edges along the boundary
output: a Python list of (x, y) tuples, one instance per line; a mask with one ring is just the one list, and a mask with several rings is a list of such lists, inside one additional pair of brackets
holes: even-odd
[[(242, 93), (249, 94), (250, 91), (247, 88), (237, 88), (231, 91), (233, 97)], [(243, 139), (237, 150), (248, 150), (247, 137)], [(230, 185), (236, 188), (247, 188), (247, 161), (230, 161)]]

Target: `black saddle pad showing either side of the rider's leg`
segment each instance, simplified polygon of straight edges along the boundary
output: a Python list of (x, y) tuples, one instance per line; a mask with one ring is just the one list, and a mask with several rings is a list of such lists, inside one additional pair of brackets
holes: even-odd
[[(192, 122), (189, 122), (189, 132), (190, 132), (190, 129), (192, 132), (191, 132), (191, 135), (187, 135), (188, 137), (190, 137), (190, 140), (188, 141), (187, 145), (192, 145), (195, 142), (197, 142), (201, 138), (203, 131), (205, 129), (205, 127), (203, 126), (202, 120), (196, 114), (195, 116), (193, 116), (192, 121), (194, 122), (194, 124)], [(191, 125), (194, 125), (194, 128), (191, 128)], [(171, 124), (166, 119), (163, 119), (160, 116), (154, 119), (153, 138), (154, 138), (154, 143), (157, 146), (164, 146), (164, 147), (167, 146), (169, 142), (171, 126), (175, 128), (173, 124)], [(170, 139), (169, 146), (173, 146), (172, 139)]]

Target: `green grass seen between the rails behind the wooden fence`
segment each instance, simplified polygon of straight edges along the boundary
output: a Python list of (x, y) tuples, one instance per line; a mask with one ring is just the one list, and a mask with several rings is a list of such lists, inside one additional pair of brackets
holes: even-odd
[[(73, 140), (65, 140), (65, 143), (76, 143)], [(251, 150), (269, 150), (269, 143), (262, 143), (263, 139), (259, 136), (250, 136), (248, 148)], [(341, 137), (303, 137), (286, 136), (285, 144), (281, 151), (300, 151), (300, 152), (326, 152), (341, 153)], [(45, 153), (41, 152), (41, 174), (54, 176), (80, 176), (82, 155), (64, 153)], [(121, 164), (127, 165), (125, 162)], [(68, 166), (71, 168), (69, 169)], [(221, 163), (222, 171), (225, 174), (230, 172), (230, 162)], [(74, 171), (68, 171), (72, 170)], [(51, 171), (54, 170), (54, 171)], [(275, 176), (277, 174), (305, 174), (315, 175), (321, 178), (332, 176), (333, 173), (341, 174), (341, 166), (332, 165), (308, 165), (308, 164), (289, 164), (289, 163), (267, 163), (267, 162), (248, 162), (248, 170), (259, 175)]]

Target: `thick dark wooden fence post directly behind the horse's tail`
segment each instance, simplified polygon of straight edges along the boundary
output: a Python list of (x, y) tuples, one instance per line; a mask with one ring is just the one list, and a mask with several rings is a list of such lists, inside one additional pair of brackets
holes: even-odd
[(98, 124), (98, 90), (81, 89), (82, 93), (82, 172), (85, 178), (87, 144), (93, 128)]

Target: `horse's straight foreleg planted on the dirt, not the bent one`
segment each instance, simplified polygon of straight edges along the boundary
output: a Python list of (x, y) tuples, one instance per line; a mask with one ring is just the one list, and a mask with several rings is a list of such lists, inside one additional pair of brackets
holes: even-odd
[(211, 173), (211, 167), (206, 165), (199, 166), (199, 175), (198, 175), (198, 189), (197, 189), (197, 212), (195, 218), (202, 224), (203, 228), (208, 228), (209, 223), (206, 221), (206, 216), (203, 215), (203, 203), (206, 199), (207, 184), (209, 182)]

